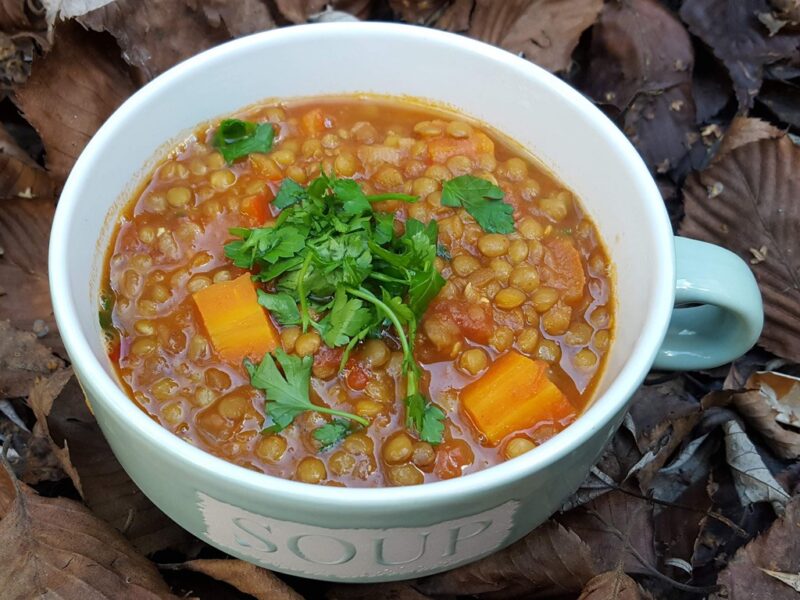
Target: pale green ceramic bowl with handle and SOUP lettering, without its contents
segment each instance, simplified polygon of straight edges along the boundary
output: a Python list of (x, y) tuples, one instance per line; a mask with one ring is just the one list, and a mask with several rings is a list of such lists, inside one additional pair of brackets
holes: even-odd
[[(580, 198), (616, 269), (616, 331), (595, 398), (534, 451), (413, 487), (347, 489), (225, 462), (160, 427), (123, 392), (98, 323), (117, 216), (176, 141), (266, 98), (368, 92), (451, 105), (525, 147)], [(238, 39), (131, 96), (75, 164), (58, 204), (50, 283), (61, 335), (120, 463), (167, 515), (234, 556), (337, 581), (428, 575), (510, 544), (584, 480), (652, 366), (719, 365), (758, 338), (763, 313), (743, 261), (675, 238), (624, 135), (533, 64), (467, 38), (374, 23), (307, 25)]]

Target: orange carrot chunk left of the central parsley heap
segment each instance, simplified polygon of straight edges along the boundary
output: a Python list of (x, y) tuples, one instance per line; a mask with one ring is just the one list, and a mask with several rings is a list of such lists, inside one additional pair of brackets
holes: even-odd
[(214, 350), (231, 363), (260, 360), (278, 347), (278, 332), (258, 303), (256, 288), (245, 273), (192, 294)]

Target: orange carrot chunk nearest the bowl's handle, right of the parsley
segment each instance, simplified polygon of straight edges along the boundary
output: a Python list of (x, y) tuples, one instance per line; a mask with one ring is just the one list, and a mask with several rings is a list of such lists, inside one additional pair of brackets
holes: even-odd
[(546, 365), (511, 351), (461, 390), (461, 406), (490, 444), (541, 421), (560, 422), (575, 407), (547, 378)]

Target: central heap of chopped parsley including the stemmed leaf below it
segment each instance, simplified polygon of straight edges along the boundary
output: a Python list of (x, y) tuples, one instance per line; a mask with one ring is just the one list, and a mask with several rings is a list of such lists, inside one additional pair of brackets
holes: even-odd
[[(403, 351), (408, 426), (438, 443), (444, 413), (422, 396), (422, 370), (414, 359), (417, 323), (445, 283), (435, 267), (438, 228), (436, 221), (408, 219), (397, 234), (394, 217), (372, 209), (373, 202), (390, 199), (417, 200), (366, 195), (357, 182), (324, 173), (306, 188), (287, 179), (275, 199), (282, 208), (276, 222), (231, 230), (240, 239), (227, 244), (225, 253), (274, 287), (275, 293), (259, 294), (259, 302), (278, 321), (314, 328), (328, 346), (344, 348), (340, 367), (359, 341), (393, 331)], [(267, 392), (268, 430), (283, 429), (304, 410), (366, 424), (308, 400), (310, 358), (301, 361), (281, 350), (276, 356), (283, 375), (269, 355), (257, 367), (248, 365), (252, 385)]]

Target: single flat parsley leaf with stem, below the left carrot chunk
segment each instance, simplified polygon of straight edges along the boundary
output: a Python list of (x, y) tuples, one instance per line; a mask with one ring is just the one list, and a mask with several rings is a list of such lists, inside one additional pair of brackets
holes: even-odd
[[(308, 391), (313, 358), (290, 356), (282, 348), (275, 350), (275, 357), (278, 359), (277, 364), (270, 354), (265, 354), (258, 366), (249, 360), (244, 362), (247, 373), (250, 375), (250, 385), (266, 392), (267, 415), (272, 420), (272, 425), (266, 427), (265, 432), (277, 433), (285, 429), (291, 425), (297, 415), (307, 410), (344, 417), (361, 423), (365, 427), (369, 425), (369, 422), (363, 417), (327, 406), (317, 406), (311, 402)], [(278, 370), (278, 364), (283, 369), (283, 373)]]

